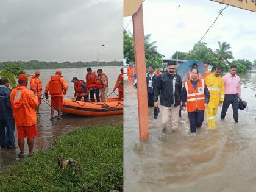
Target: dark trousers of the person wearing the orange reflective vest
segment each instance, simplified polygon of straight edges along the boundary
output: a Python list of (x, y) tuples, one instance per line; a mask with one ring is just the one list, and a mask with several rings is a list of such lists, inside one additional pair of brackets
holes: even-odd
[(188, 112), (188, 119), (190, 119), (191, 133), (196, 132), (196, 128), (201, 127), (204, 121), (204, 111)]

